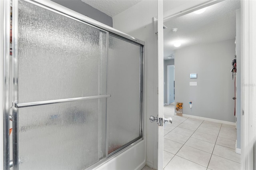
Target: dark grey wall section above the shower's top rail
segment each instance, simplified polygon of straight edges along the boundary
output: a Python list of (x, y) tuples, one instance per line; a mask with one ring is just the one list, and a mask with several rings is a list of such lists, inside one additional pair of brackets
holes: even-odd
[(80, 14), (83, 14), (84, 16), (88, 16), (89, 18), (92, 18), (98, 22), (106, 24), (107, 26), (110, 26), (110, 27), (113, 26), (112, 17), (82, 2), (81, 0), (51, 0), (51, 1), (56, 2), (57, 4), (60, 4), (62, 6), (65, 6), (66, 8), (69, 8)]

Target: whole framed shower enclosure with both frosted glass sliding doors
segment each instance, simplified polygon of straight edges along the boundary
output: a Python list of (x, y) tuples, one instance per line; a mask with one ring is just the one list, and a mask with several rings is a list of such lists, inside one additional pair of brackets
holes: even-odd
[(39, 0), (13, 0), (12, 33), (6, 169), (92, 168), (142, 140), (144, 42)]

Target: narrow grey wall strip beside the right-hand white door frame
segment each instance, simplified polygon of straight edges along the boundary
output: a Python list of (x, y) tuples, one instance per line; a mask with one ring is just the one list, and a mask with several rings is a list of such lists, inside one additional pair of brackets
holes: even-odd
[(236, 10), (236, 148), (241, 149), (241, 10)]

